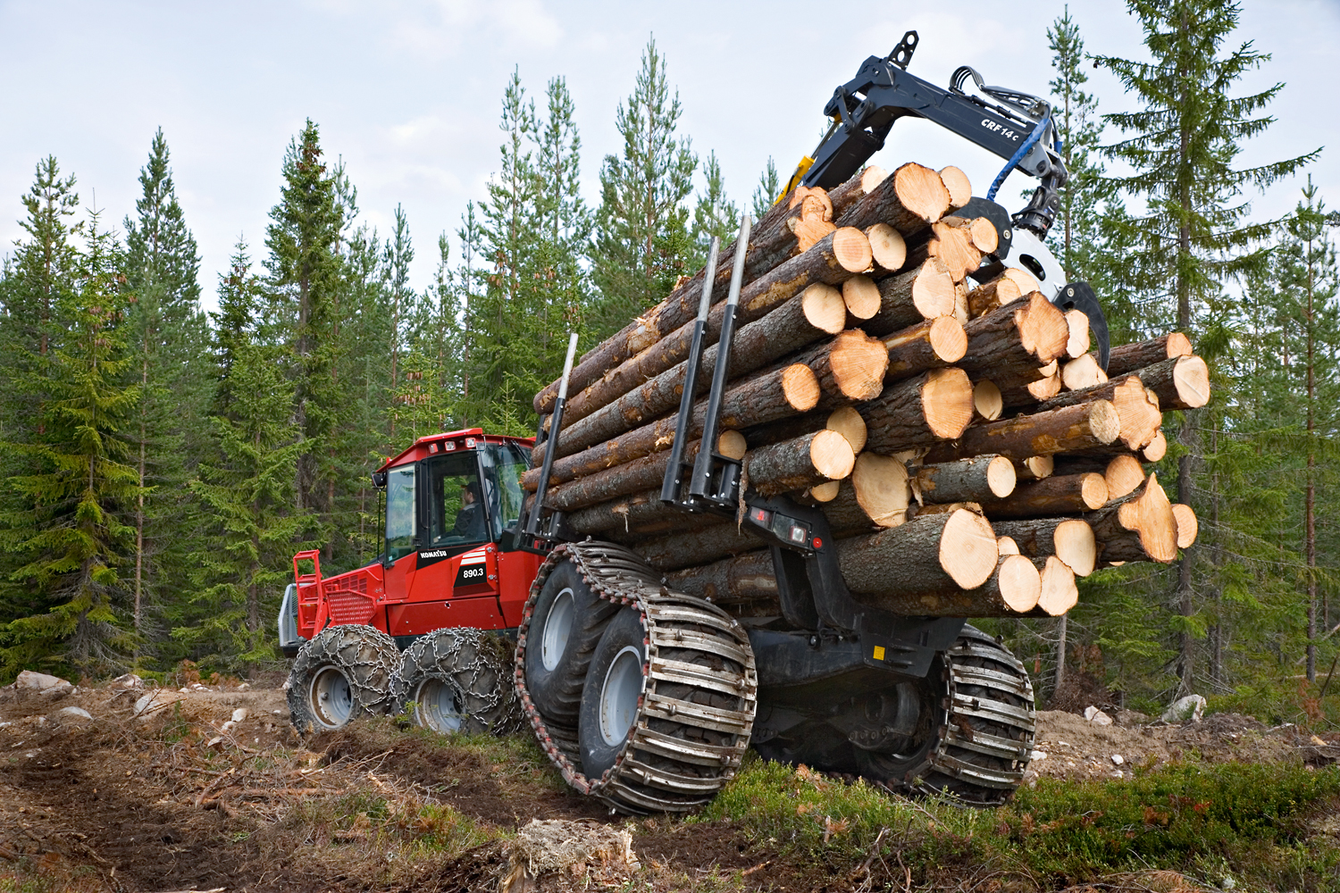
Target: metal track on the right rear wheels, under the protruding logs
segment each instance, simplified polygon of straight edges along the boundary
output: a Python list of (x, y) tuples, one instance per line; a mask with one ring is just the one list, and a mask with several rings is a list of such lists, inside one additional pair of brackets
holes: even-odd
[[(946, 694), (939, 740), (926, 762), (904, 775), (904, 785), (930, 795), (950, 793), (974, 806), (1000, 805), (1018, 787), (1032, 759), (1033, 684), (1018, 659), (973, 627), (965, 627), (942, 653)], [(976, 665), (982, 661), (993, 667)], [(943, 786), (933, 783), (937, 775)]]

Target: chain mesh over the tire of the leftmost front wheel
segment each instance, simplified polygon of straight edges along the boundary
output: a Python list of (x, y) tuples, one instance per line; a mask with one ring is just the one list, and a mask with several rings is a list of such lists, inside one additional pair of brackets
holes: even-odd
[(316, 726), (307, 704), (308, 676), (327, 664), (339, 667), (348, 680), (354, 698), (350, 719), (390, 711), (391, 680), (401, 668), (395, 640), (374, 627), (327, 627), (303, 644), (288, 673), (288, 715), (300, 734), (306, 735)]

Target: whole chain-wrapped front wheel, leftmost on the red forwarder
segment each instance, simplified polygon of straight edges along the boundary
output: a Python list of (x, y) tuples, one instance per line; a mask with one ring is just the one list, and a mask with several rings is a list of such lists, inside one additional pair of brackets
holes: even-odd
[(381, 629), (327, 627), (303, 643), (288, 673), (288, 716), (300, 734), (330, 731), (391, 706), (399, 668), (395, 641)]

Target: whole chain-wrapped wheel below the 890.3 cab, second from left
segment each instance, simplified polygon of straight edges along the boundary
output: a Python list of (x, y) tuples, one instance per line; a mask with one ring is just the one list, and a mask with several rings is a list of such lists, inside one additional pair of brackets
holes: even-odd
[(413, 703), (414, 723), (442, 735), (511, 735), (524, 716), (512, 685), (508, 643), (482, 629), (437, 629), (405, 651), (395, 711)]

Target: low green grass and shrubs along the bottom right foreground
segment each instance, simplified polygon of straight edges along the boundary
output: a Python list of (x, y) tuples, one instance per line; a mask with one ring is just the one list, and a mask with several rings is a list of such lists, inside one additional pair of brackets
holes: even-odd
[(1009, 806), (976, 810), (754, 758), (689, 821), (729, 819), (756, 842), (829, 864), (878, 856), (937, 889), (990, 865), (1028, 878), (1030, 889), (1163, 869), (1215, 886), (1233, 877), (1240, 888), (1301, 893), (1340, 889), (1340, 841), (1315, 830), (1337, 807), (1340, 768), (1301, 763), (1175, 763), (1126, 781), (1038, 779)]

